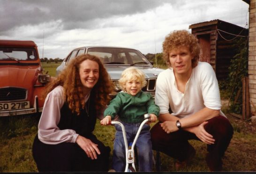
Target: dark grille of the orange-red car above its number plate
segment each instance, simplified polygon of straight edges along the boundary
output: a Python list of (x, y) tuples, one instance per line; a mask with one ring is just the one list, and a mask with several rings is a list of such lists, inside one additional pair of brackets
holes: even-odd
[(27, 89), (18, 87), (0, 88), (0, 101), (26, 100)]

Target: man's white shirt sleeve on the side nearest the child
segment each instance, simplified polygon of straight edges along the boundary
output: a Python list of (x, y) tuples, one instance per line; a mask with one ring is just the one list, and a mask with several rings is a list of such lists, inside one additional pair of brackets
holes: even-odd
[(155, 94), (155, 104), (159, 106), (160, 114), (169, 113), (169, 103), (165, 74), (160, 73), (157, 78)]

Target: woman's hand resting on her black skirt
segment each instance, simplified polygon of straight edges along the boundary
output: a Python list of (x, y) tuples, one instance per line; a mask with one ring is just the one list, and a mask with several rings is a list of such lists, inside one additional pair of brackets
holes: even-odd
[(100, 154), (97, 144), (91, 142), (90, 139), (84, 138), (80, 135), (78, 135), (75, 142), (83, 149), (88, 158), (91, 160), (97, 159), (96, 153)]

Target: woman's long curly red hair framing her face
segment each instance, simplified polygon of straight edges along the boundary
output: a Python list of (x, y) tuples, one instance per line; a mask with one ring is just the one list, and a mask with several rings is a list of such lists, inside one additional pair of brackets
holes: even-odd
[(99, 66), (99, 78), (98, 82), (92, 88), (96, 98), (96, 109), (104, 109), (105, 106), (111, 100), (109, 94), (113, 90), (113, 83), (110, 77), (101, 63), (100, 59), (96, 56), (89, 54), (83, 54), (74, 58), (68, 63), (68, 66), (62, 71), (56, 79), (47, 85), (45, 95), (47, 95), (53, 88), (57, 86), (64, 87), (64, 97), (68, 104), (68, 108), (72, 110), (72, 113), (80, 114), (80, 109), (84, 109), (85, 101), (84, 97), (88, 93), (84, 91), (84, 86), (80, 80), (79, 68), (80, 64), (84, 60), (92, 60), (98, 63)]

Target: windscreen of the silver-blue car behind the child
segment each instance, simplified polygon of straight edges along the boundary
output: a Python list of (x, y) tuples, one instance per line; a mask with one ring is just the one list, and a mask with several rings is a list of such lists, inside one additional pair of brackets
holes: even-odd
[(146, 65), (149, 61), (137, 50), (111, 47), (92, 47), (87, 54), (100, 58), (104, 65)]

